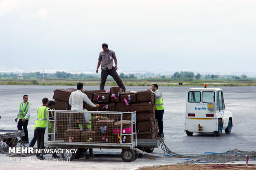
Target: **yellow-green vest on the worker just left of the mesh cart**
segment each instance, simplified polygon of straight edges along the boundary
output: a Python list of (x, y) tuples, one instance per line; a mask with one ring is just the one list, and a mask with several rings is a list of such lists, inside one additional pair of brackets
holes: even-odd
[(37, 127), (44, 127), (46, 128), (47, 125), (47, 110), (50, 108), (47, 108), (46, 106), (40, 106), (37, 109), (37, 118), (36, 118), (36, 128)]

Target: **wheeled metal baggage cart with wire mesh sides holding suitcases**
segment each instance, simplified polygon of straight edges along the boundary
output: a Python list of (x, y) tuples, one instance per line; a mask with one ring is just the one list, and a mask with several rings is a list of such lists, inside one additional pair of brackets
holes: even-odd
[(48, 110), (45, 146), (78, 152), (62, 158), (79, 159), (83, 148), (122, 149), (125, 162), (137, 159), (136, 112)]

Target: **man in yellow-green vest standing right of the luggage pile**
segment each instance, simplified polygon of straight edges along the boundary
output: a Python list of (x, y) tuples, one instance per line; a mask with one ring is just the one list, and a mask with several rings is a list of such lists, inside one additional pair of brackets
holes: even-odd
[(151, 90), (147, 89), (147, 91), (151, 91), (152, 93), (156, 94), (156, 102), (155, 102), (155, 114), (156, 114), (156, 119), (158, 120), (158, 125), (159, 125), (159, 133), (158, 136), (163, 138), (164, 137), (164, 123), (163, 123), (163, 115), (164, 115), (164, 102), (162, 98), (162, 93), (159, 92), (158, 85), (157, 84), (152, 84)]

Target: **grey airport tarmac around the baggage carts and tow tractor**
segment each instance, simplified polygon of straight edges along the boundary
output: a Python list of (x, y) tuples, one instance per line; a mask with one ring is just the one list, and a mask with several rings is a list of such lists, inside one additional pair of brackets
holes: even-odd
[[(28, 123), (29, 141), (33, 138), (33, 122), (36, 119), (36, 108), (41, 106), (43, 97), (52, 99), (53, 90), (57, 88), (75, 88), (73, 86), (2, 86), (0, 87), (0, 129), (17, 129), (14, 122), (19, 102), (24, 94), (28, 94), (32, 103), (31, 118)], [(142, 91), (150, 87), (128, 87), (128, 91)], [(171, 151), (183, 154), (204, 154), (204, 152), (226, 152), (230, 149), (244, 151), (256, 150), (256, 87), (220, 87), (224, 92), (226, 109), (233, 114), (233, 127), (230, 134), (216, 137), (214, 134), (195, 133), (187, 136), (184, 132), (186, 90), (192, 87), (159, 87), (164, 99), (164, 135), (165, 143)], [(217, 88), (217, 87), (216, 87)], [(95, 90), (98, 87), (84, 87), (84, 90)], [(105, 89), (109, 90), (110, 87)], [(3, 110), (4, 108), (4, 110)], [(28, 146), (28, 144), (26, 144)], [(35, 145), (36, 147), (36, 145)], [(154, 154), (164, 155), (161, 148), (155, 148)], [(124, 162), (119, 154), (121, 149), (94, 149), (95, 159), (74, 159), (70, 162), (53, 160), (51, 154), (44, 155), (47, 160), (38, 161), (36, 156), (9, 157), (0, 154), (0, 169), (27, 170), (59, 170), (59, 169), (93, 169), (93, 170), (133, 170), (145, 166), (169, 165), (184, 163), (184, 158), (155, 157), (143, 155), (130, 163)], [(232, 164), (245, 164), (236, 161)], [(256, 161), (249, 160), (249, 164)]]

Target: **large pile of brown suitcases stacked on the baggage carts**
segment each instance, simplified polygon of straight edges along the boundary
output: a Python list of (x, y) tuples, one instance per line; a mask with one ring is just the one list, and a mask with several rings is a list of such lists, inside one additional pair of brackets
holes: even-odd
[[(75, 89), (61, 90), (56, 89), (54, 91), (54, 99), (56, 103), (56, 110), (70, 110), (69, 106), (69, 96), (71, 92)], [(55, 94), (56, 93), (56, 94)], [(137, 112), (137, 139), (155, 139), (158, 136), (158, 122), (155, 119), (154, 112), (154, 102), (155, 94), (150, 91), (141, 91), (141, 92), (127, 92), (123, 93), (120, 87), (111, 87), (110, 92), (105, 90), (93, 90), (93, 91), (83, 91), (88, 98), (94, 104), (100, 104), (99, 108), (93, 108), (88, 103), (84, 103), (84, 108), (88, 111), (118, 111), (118, 112)], [(65, 107), (58, 102), (66, 102)], [(114, 132), (114, 129), (118, 129), (117, 126), (120, 126), (121, 117), (107, 117), (106, 119), (95, 118), (97, 115), (92, 115), (92, 131), (81, 132), (81, 138), (87, 139), (85, 136), (91, 134), (93, 138), (97, 138), (97, 141), (100, 141), (103, 138), (108, 138), (110, 142), (118, 141), (118, 133)], [(104, 117), (104, 116), (102, 116)], [(123, 114), (123, 126), (122, 128), (129, 131), (129, 128), (132, 128), (125, 120), (131, 120), (130, 114)], [(100, 127), (104, 127), (104, 124), (108, 124), (109, 127), (112, 127), (110, 131), (113, 131), (113, 138), (106, 135), (100, 136)], [(93, 129), (94, 128), (94, 129)], [(120, 127), (121, 128), (121, 127)], [(134, 127), (133, 127), (134, 128)], [(68, 130), (68, 129), (66, 129)], [(97, 134), (97, 135), (96, 135)], [(98, 137), (96, 137), (98, 136)], [(131, 136), (122, 136), (124, 142), (129, 141)], [(123, 139), (125, 138), (125, 139)], [(127, 139), (126, 139), (127, 138)], [(66, 139), (67, 140), (67, 139)], [(83, 140), (85, 141), (85, 140)], [(106, 141), (106, 140), (105, 140)]]

